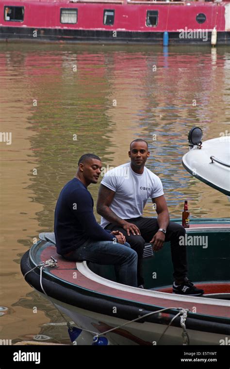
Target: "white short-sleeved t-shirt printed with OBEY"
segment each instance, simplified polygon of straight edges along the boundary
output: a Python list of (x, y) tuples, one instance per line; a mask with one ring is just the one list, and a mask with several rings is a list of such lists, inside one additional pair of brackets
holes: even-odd
[[(164, 195), (163, 185), (156, 174), (146, 167), (142, 174), (137, 174), (132, 170), (131, 163), (109, 170), (101, 184), (115, 191), (110, 209), (122, 219), (141, 217), (149, 198)], [(107, 224), (109, 221), (101, 217), (101, 227)]]

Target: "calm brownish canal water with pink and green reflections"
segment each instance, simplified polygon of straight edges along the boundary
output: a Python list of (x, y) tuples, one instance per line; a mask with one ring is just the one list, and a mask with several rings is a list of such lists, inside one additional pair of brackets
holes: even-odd
[[(83, 153), (111, 168), (144, 138), (171, 218), (184, 199), (194, 218), (230, 216), (226, 196), (181, 166), (191, 127), (204, 139), (230, 132), (230, 48), (0, 44), (0, 112), (0, 131), (12, 133), (11, 145), (0, 142), (0, 339), (69, 343), (19, 263), (34, 237), (53, 230), (55, 201)], [(95, 201), (98, 188), (89, 187)], [(150, 201), (145, 216), (154, 215)]]

